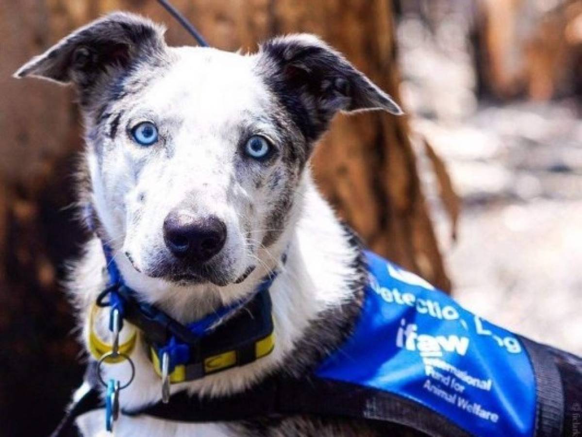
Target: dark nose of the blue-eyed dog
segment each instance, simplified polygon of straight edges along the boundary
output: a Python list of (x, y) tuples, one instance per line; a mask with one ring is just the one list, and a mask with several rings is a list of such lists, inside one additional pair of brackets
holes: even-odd
[(193, 218), (189, 211), (171, 211), (164, 220), (164, 240), (178, 258), (210, 260), (226, 241), (226, 225), (215, 215)]

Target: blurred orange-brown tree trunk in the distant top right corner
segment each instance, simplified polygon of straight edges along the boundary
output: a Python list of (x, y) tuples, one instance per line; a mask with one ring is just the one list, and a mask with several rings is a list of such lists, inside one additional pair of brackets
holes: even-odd
[(485, 91), (501, 99), (524, 95), (538, 101), (580, 94), (579, 0), (481, 0), (479, 5), (475, 51)]

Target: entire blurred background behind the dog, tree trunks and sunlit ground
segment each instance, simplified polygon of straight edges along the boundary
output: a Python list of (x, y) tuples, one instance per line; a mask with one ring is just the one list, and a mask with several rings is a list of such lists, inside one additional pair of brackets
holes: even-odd
[[(173, 3), (218, 48), (308, 31), (344, 52), (407, 116), (336, 118), (314, 168), (339, 214), (475, 313), (582, 354), (582, 2)], [(63, 280), (88, 237), (74, 94), (11, 74), (116, 9), (193, 44), (154, 0), (0, 5), (0, 435), (47, 435), (81, 380)]]

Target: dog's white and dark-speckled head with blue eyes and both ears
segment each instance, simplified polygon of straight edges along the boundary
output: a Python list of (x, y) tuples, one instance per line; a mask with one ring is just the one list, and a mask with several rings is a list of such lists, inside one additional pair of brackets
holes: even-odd
[(398, 105), (311, 35), (257, 54), (171, 48), (113, 13), (16, 76), (72, 83), (86, 123), (91, 202), (111, 246), (144, 275), (240, 282), (297, 202), (314, 143), (338, 111)]

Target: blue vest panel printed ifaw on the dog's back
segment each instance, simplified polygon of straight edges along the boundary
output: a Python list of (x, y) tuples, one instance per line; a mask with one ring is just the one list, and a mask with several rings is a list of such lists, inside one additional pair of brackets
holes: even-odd
[(315, 375), (411, 400), (470, 434), (533, 435), (536, 383), (520, 339), (366, 255), (370, 280), (356, 330)]

